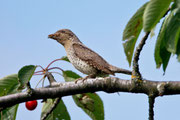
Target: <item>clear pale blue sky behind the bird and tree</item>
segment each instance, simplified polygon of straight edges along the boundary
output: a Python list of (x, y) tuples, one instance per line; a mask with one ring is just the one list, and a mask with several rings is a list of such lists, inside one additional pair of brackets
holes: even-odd
[[(125, 25), (136, 10), (147, 0), (1, 0), (0, 1), (0, 78), (17, 73), (29, 64), (46, 66), (54, 59), (65, 56), (64, 48), (48, 39), (48, 34), (59, 29), (71, 29), (89, 48), (118, 67), (128, 66), (122, 46)], [(171, 58), (166, 74), (156, 69), (154, 61), (155, 36), (149, 38), (140, 56), (140, 71), (149, 80), (179, 81), (180, 63)], [(141, 33), (140, 38), (144, 35)], [(71, 64), (57, 62), (54, 66), (75, 70)], [(82, 74), (81, 74), (82, 75)], [(85, 75), (82, 75), (85, 76)], [(130, 76), (117, 75), (130, 79)], [(33, 77), (35, 86), (40, 77)], [(57, 81), (63, 81), (59, 76)], [(98, 92), (104, 102), (105, 120), (147, 120), (148, 99), (143, 94)], [(76, 107), (71, 97), (63, 98), (72, 120), (90, 120)], [(30, 112), (22, 103), (17, 120), (40, 119), (42, 104)], [(155, 103), (156, 120), (179, 120), (180, 96), (158, 97)]]

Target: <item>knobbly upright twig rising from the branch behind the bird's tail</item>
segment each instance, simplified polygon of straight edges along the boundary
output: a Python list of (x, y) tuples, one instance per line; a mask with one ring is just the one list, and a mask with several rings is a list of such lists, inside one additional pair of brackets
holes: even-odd
[(149, 33), (150, 32), (147, 32), (145, 34), (145, 36), (142, 38), (141, 42), (139, 43), (139, 45), (136, 47), (136, 51), (134, 53), (134, 59), (133, 59), (133, 71), (132, 71), (132, 75), (135, 76), (135, 78), (139, 78), (139, 79), (142, 79), (141, 77), (141, 73), (139, 72), (139, 64), (138, 64), (138, 61), (139, 61), (139, 56), (140, 56), (140, 53), (142, 51), (142, 48), (143, 46), (145, 45), (145, 42), (149, 36)]

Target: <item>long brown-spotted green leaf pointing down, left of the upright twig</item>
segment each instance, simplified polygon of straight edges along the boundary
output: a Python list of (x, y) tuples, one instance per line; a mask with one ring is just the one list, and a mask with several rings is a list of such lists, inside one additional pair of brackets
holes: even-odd
[(129, 66), (131, 66), (131, 60), (137, 38), (142, 30), (142, 25), (143, 25), (142, 17), (144, 14), (144, 9), (146, 8), (147, 4), (148, 2), (145, 3), (141, 8), (139, 8), (137, 12), (131, 17), (123, 32), (123, 40), (126, 40), (123, 46), (127, 60), (129, 62)]

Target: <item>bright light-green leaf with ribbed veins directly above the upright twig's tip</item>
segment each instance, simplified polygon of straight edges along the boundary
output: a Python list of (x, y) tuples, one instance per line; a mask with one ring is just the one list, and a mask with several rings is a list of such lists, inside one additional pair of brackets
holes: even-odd
[(166, 13), (172, 0), (151, 0), (143, 15), (143, 28), (145, 32), (151, 31)]

